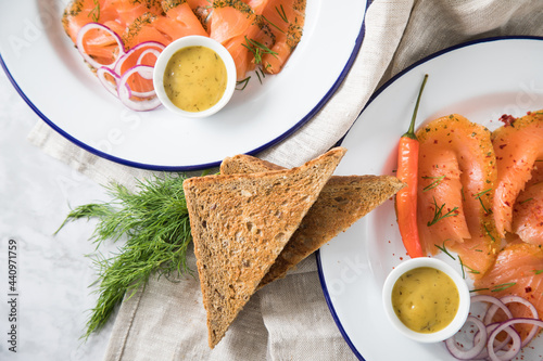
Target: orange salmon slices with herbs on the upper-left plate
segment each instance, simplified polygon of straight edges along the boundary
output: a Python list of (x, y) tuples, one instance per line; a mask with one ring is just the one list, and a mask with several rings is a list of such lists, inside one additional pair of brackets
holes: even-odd
[[(210, 36), (230, 52), (242, 80), (257, 65), (263, 72), (280, 72), (302, 37), (305, 1), (73, 0), (62, 23), (74, 43), (83, 26), (103, 24), (121, 36), (124, 51), (146, 41), (167, 46), (189, 35)], [(85, 51), (98, 63), (111, 64), (116, 42), (99, 33), (86, 35)]]

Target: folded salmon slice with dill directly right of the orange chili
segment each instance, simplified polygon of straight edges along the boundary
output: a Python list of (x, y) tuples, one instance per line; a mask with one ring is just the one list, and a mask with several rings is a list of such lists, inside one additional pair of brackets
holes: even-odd
[(417, 131), (420, 242), (430, 254), (456, 252), (472, 278), (484, 274), (498, 248), (490, 211), (496, 179), (490, 136), (457, 114)]

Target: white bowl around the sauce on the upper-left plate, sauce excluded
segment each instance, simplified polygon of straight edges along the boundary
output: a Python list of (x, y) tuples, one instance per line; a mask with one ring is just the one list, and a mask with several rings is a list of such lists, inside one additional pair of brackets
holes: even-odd
[[(217, 55), (223, 60), (226, 66), (227, 85), (223, 96), (215, 105), (201, 112), (187, 112), (177, 107), (169, 100), (168, 95), (166, 94), (166, 90), (164, 89), (164, 72), (169, 60), (177, 51), (188, 47), (205, 47), (215, 51), (215, 53), (217, 53)], [(206, 117), (220, 111), (230, 101), (236, 89), (236, 64), (228, 50), (218, 41), (212, 38), (194, 35), (182, 37), (173, 41), (161, 52), (159, 59), (156, 60), (156, 63), (154, 64), (153, 86), (154, 91), (156, 92), (156, 96), (159, 96), (162, 104), (168, 111), (185, 117)]]

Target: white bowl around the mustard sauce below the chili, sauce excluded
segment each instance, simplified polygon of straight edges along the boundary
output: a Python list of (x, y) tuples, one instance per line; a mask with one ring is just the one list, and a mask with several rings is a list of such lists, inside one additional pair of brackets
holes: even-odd
[[(421, 267), (429, 267), (442, 271), (453, 280), (456, 288), (458, 289), (459, 305), (456, 315), (447, 326), (434, 333), (419, 333), (411, 330), (399, 319), (399, 317), (394, 312), (394, 308), (392, 307), (392, 289), (399, 278), (407, 271)], [(446, 262), (437, 258), (429, 257), (412, 258), (403, 261), (396, 268), (394, 268), (394, 270), (390, 272), (387, 280), (384, 281), (382, 299), (387, 317), (394, 325), (394, 327), (405, 336), (420, 343), (438, 343), (452, 337), (462, 328), (462, 326), (466, 322), (470, 306), (468, 285), (464, 281), (462, 275)]]

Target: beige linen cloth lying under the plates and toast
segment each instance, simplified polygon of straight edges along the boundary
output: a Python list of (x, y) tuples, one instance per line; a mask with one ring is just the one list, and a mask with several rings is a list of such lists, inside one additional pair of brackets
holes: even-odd
[[(331, 101), (261, 157), (292, 167), (324, 153), (348, 131), (379, 85), (438, 50), (491, 36), (543, 36), (543, 1), (376, 0), (365, 27), (357, 59)], [(135, 178), (149, 176), (91, 155), (45, 124), (29, 139), (100, 183), (114, 180), (132, 186)], [(193, 256), (190, 262), (195, 270)], [(152, 280), (121, 306), (105, 352), (108, 361), (353, 359), (327, 308), (314, 257), (257, 292), (213, 350), (198, 279)]]

